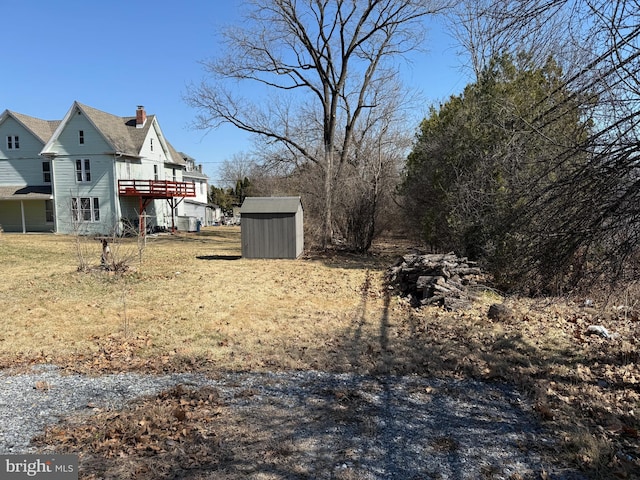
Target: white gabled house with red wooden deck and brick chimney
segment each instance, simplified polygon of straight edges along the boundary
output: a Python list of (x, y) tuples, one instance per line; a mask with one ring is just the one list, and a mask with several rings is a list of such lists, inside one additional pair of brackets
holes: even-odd
[(0, 116), (0, 225), (5, 231), (126, 233), (173, 228), (195, 184), (155, 115), (118, 117), (74, 102), (61, 121)]

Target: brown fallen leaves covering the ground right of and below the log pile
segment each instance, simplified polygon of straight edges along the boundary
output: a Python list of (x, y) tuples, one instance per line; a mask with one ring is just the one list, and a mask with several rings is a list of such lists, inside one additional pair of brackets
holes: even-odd
[[(590, 472), (620, 457), (625, 461), (616, 463), (616, 475), (640, 475), (635, 310), (584, 308), (552, 298), (505, 302), (513, 311), (509, 321), (487, 317), (495, 299), (465, 312), (408, 311), (398, 327), (401, 338), (420, 340), (416, 345), (428, 354), (414, 357), (413, 364), (431, 375), (518, 385), (530, 393), (534, 412), (559, 438), (571, 432), (559, 457)], [(594, 324), (605, 325), (609, 338), (590, 335), (588, 327)]]

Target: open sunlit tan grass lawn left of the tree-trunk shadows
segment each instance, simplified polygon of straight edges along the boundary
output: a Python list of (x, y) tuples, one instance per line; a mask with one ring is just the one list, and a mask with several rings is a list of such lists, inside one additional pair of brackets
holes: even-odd
[[(135, 241), (123, 240), (116, 248), (132, 257), (125, 274), (98, 268), (97, 241), (3, 235), (1, 364), (80, 360), (121, 370), (186, 358), (222, 370), (350, 368), (328, 357), (345, 335), (379, 333), (370, 320), (383, 308), (383, 263), (246, 260), (239, 235), (218, 227), (149, 238), (141, 261)], [(78, 250), (95, 268), (78, 272)], [(128, 354), (133, 363), (116, 361)]]

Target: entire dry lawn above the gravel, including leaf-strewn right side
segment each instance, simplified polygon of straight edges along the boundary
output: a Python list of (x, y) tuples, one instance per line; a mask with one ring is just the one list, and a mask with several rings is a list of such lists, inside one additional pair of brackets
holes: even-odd
[[(389, 293), (394, 240), (373, 254), (299, 260), (240, 257), (237, 227), (134, 240), (124, 274), (99, 269), (100, 244), (68, 236), (0, 236), (0, 367), (51, 362), (99, 374), (139, 370), (274, 371), (472, 377), (516, 384), (568, 458), (595, 478), (638, 475), (638, 310), (630, 287), (583, 308), (503, 299), (412, 310)], [(395, 251), (394, 251), (395, 250)], [(95, 268), (78, 271), (78, 252)], [(513, 317), (491, 321), (504, 301)], [(618, 336), (588, 335), (602, 324)]]

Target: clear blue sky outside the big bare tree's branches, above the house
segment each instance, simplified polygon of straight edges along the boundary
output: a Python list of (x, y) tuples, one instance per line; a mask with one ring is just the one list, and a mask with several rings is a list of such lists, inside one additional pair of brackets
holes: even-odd
[[(237, 22), (240, 0), (3, 0), (5, 55), (0, 112), (61, 119), (77, 100), (119, 116), (137, 105), (158, 116), (166, 138), (203, 164), (216, 184), (218, 167), (249, 151), (244, 133), (190, 128), (195, 111), (184, 102), (199, 82), (199, 62), (216, 54), (216, 29)], [(468, 77), (454, 40), (432, 23), (426, 51), (403, 70), (422, 91), (424, 108), (460, 93)], [(417, 126), (417, 125), (416, 125)]]

